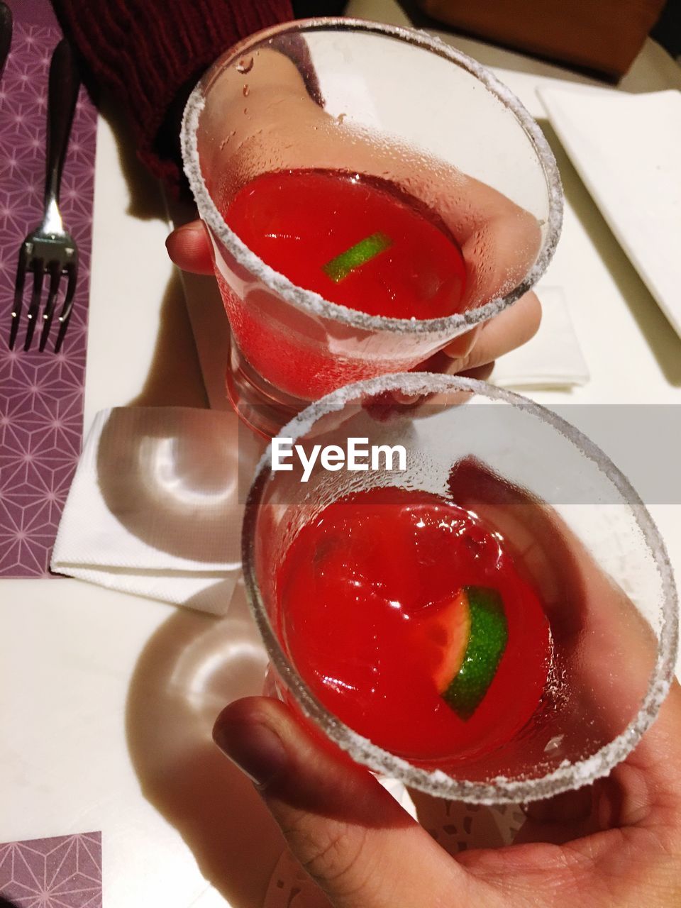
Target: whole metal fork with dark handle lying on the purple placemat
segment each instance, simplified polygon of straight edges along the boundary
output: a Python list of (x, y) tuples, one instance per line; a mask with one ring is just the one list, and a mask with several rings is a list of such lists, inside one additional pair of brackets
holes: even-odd
[(54, 48), (50, 63), (44, 217), (43, 222), (35, 231), (28, 234), (19, 249), (15, 306), (9, 335), (10, 350), (14, 349), (16, 334), (19, 330), (27, 271), (33, 273), (33, 291), (26, 315), (24, 350), (28, 350), (31, 346), (35, 325), (39, 321), (40, 300), (45, 277), (49, 277), (50, 286), (43, 311), (43, 330), (40, 335), (39, 349), (44, 350), (47, 343), (62, 275), (67, 278), (67, 283), (64, 304), (58, 319), (59, 332), (54, 344), (55, 353), (61, 350), (64, 334), (71, 318), (75, 281), (78, 274), (78, 249), (71, 234), (64, 230), (62, 215), (59, 212), (59, 188), (62, 182), (66, 146), (71, 133), (79, 87), (80, 80), (73, 53), (67, 42), (62, 40)]

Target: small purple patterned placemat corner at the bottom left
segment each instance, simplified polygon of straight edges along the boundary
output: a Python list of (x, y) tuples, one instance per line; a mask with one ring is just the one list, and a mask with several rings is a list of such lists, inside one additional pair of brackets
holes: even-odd
[(15, 908), (102, 908), (102, 834), (0, 844), (0, 897)]

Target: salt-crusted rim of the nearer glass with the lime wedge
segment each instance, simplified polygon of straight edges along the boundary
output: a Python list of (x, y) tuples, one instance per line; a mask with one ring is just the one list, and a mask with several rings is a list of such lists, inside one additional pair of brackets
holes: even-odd
[(254, 540), (259, 506), (269, 480), (274, 476), (271, 470), (271, 444), (262, 455), (252, 480), (244, 509), (242, 527), (242, 568), (246, 593), (252, 616), (260, 630), (271, 661), (281, 676), (284, 685), (291, 691), (305, 716), (309, 716), (323, 732), (342, 750), (347, 751), (358, 763), (374, 771), (396, 776), (406, 785), (430, 795), (467, 801), (472, 804), (511, 804), (534, 801), (558, 795), (582, 785), (589, 785), (597, 778), (607, 775), (613, 766), (631, 753), (647, 728), (655, 721), (664, 700), (676, 666), (678, 633), (678, 601), (674, 576), (666, 552), (666, 546), (636, 489), (627, 477), (593, 441), (570, 425), (556, 413), (541, 407), (512, 391), (495, 388), (484, 381), (435, 374), (431, 372), (396, 373), (377, 379), (357, 381), (332, 391), (317, 400), (285, 425), (279, 438), (297, 439), (310, 431), (321, 417), (341, 409), (342, 406), (362, 397), (369, 397), (385, 391), (399, 390), (408, 395), (437, 394), (445, 391), (472, 391), (476, 395), (506, 402), (512, 406), (521, 405), (531, 415), (548, 422), (577, 447), (588, 459), (594, 461), (616, 487), (631, 508), (637, 526), (641, 530), (646, 546), (652, 554), (662, 583), (662, 624), (657, 644), (656, 663), (650, 675), (646, 695), (643, 697), (637, 715), (627, 728), (607, 745), (604, 745), (584, 760), (560, 765), (552, 772), (531, 779), (508, 779), (498, 776), (489, 782), (475, 782), (455, 779), (442, 770), (427, 770), (410, 764), (389, 751), (374, 745), (366, 737), (353, 731), (337, 716), (322, 706), (311, 688), (303, 681), (291, 660), (284, 653), (279, 639), (271, 627), (267, 608), (262, 599), (261, 589), (255, 572)]

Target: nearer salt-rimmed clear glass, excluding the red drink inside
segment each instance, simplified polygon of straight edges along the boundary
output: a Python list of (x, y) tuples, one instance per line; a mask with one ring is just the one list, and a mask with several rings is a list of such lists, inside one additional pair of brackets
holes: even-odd
[[(334, 391), (281, 437), (306, 458), (315, 445), (346, 450), (350, 438), (362, 448), (399, 443), (406, 469), (381, 461), (380, 469), (330, 472), (318, 458), (301, 481), (299, 459), (274, 471), (271, 448), (263, 455), (246, 502), (242, 559), (278, 696), (357, 762), (450, 799), (545, 798), (587, 785), (627, 757), (674, 673), (677, 598), (646, 507), (601, 450), (518, 395), (425, 372)], [(376, 486), (420, 489), (473, 511), (504, 538), (542, 602), (554, 646), (545, 696), (528, 724), (489, 753), (439, 760), (390, 753), (332, 715), (289, 656), (278, 599), (282, 558), (332, 501)]]

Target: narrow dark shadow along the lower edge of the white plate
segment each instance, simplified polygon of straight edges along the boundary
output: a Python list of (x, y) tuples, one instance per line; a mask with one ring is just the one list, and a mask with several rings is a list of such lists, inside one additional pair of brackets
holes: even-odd
[[(637, 321), (638, 329), (657, 360), (657, 364), (669, 384), (681, 386), (681, 357), (679, 357), (679, 340), (676, 332), (666, 320), (637, 270), (627, 258), (627, 253), (617, 242), (616, 237), (607, 226), (603, 215), (582, 183), (568, 154), (563, 149), (558, 136), (548, 120), (539, 120), (542, 132), (546, 135), (551, 150), (556, 155), (558, 170), (563, 181), (566, 200), (571, 205), (581, 222), (589, 239), (603, 260), (618, 291), (622, 294), (631, 314)], [(594, 306), (598, 301), (594, 300)], [(604, 343), (617, 343), (617, 324), (612, 326), (612, 336), (603, 339)]]

